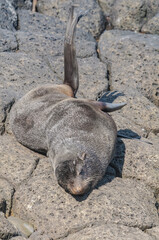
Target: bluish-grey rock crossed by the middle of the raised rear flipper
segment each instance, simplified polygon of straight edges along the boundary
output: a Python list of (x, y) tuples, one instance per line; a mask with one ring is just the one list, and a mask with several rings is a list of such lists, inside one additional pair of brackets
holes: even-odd
[[(62, 56), (64, 53), (64, 33), (30, 33), (17, 31), (18, 49), (29, 56), (42, 57)], [(93, 37), (81, 29), (77, 30), (76, 36), (77, 57), (89, 57), (96, 55), (96, 42)]]

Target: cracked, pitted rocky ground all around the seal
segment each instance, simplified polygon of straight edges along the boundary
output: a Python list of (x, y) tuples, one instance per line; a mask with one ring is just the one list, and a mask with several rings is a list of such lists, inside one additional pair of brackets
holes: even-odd
[[(127, 102), (112, 113), (121, 137), (105, 177), (78, 198), (8, 124), (27, 91), (62, 83), (71, 2), (90, 10), (76, 35), (78, 97)], [(36, 13), (31, 5), (0, 1), (0, 239), (159, 239), (159, 0), (38, 0)]]

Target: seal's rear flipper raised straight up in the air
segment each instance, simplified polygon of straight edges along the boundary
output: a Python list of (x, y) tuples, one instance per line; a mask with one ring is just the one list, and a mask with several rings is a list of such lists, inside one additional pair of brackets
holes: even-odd
[(79, 86), (78, 64), (74, 44), (75, 29), (78, 21), (86, 14), (86, 12), (80, 12), (74, 18), (73, 12), (74, 7), (71, 7), (64, 44), (64, 84), (67, 84), (72, 88), (75, 96)]

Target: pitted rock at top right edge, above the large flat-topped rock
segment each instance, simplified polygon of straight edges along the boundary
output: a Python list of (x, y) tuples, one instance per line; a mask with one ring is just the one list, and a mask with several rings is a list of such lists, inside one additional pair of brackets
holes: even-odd
[[(159, 11), (158, 0), (99, 0), (99, 4), (115, 29), (140, 31)], [(158, 22), (152, 21), (158, 29)]]

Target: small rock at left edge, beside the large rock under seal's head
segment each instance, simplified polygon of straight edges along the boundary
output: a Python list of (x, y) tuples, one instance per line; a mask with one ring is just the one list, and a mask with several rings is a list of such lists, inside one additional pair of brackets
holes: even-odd
[[(1, 168), (2, 168), (1, 162)], [(12, 198), (14, 194), (13, 186), (2, 176), (0, 177), (0, 211), (9, 216), (12, 207)]]

